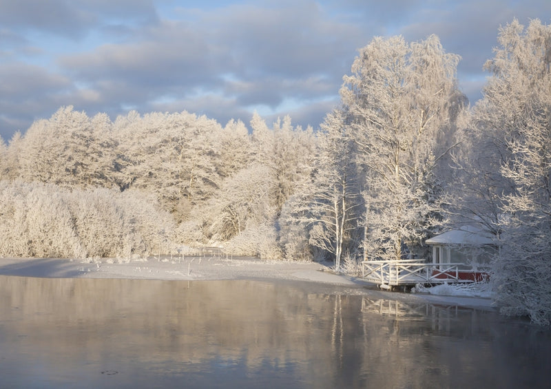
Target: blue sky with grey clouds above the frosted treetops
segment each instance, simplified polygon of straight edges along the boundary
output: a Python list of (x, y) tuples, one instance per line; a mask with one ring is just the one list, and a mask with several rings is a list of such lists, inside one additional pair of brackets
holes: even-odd
[(0, 136), (72, 105), (318, 128), (374, 36), (437, 34), (481, 98), (500, 25), (551, 23), (550, 0), (0, 0)]

